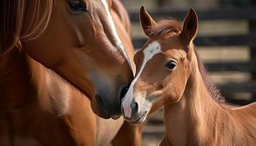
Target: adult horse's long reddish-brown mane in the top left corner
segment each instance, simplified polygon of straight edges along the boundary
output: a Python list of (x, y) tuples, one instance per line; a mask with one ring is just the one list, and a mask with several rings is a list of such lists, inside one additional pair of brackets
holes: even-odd
[(31, 1), (0, 1), (0, 56), (15, 47), (20, 41), (36, 39), (48, 26), (53, 9), (53, 0), (34, 0), (34, 9), (29, 9), (29, 12), (33, 12), (31, 19), (29, 19), (29, 30), (21, 33), (29, 2)]

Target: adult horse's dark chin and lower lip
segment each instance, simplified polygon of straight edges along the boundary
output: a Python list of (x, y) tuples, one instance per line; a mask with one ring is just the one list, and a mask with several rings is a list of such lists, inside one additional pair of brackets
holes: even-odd
[[(118, 112), (118, 110), (108, 109), (108, 107), (110, 106), (105, 104), (105, 102), (102, 100), (100, 96), (96, 95), (94, 99), (92, 99), (91, 107), (94, 113), (101, 118), (105, 118), (105, 119), (113, 118), (114, 120), (116, 120), (121, 117), (121, 111)], [(115, 107), (115, 106), (111, 106), (111, 107)]]

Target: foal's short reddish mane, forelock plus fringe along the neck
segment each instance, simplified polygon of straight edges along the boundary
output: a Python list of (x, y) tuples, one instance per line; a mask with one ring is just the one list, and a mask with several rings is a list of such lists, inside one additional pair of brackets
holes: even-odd
[[(182, 25), (181, 25), (180, 21), (176, 20), (174, 18), (170, 18), (170, 19), (160, 20), (157, 23), (157, 26), (148, 28), (147, 31), (149, 32), (149, 37), (159, 37), (162, 34), (167, 34), (170, 32), (179, 34), (181, 32), (181, 30), (182, 30)], [(214, 101), (216, 101), (219, 104), (222, 104), (225, 101), (225, 99), (221, 95), (217, 86), (214, 85), (213, 82), (211, 82), (211, 79), (208, 75), (206, 66), (203, 64), (203, 61), (200, 60), (197, 50), (195, 50), (195, 47), (194, 47), (194, 52), (197, 57), (198, 69), (203, 78), (203, 82), (206, 85), (208, 93), (210, 94), (211, 98), (214, 99)]]

